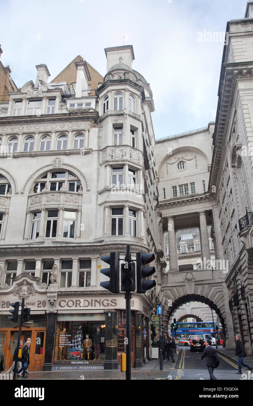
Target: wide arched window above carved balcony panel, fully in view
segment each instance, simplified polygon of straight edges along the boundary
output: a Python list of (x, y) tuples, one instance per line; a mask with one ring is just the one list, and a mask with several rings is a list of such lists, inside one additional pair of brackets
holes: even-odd
[(81, 186), (80, 179), (69, 171), (54, 171), (41, 175), (33, 186), (35, 193), (43, 190), (59, 191), (61, 188), (69, 192), (78, 192)]

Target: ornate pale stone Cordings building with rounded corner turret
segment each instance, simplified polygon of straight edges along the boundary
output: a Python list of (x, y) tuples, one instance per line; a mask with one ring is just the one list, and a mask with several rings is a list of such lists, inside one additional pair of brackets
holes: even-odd
[(132, 366), (151, 356), (151, 315), (166, 265), (154, 103), (132, 69), (132, 46), (105, 52), (104, 78), (80, 56), (52, 82), (48, 67), (37, 65), (35, 83), (9, 92), (0, 113), (0, 339), (7, 367), (17, 335), (8, 309), (22, 298), (31, 309), (22, 335), (32, 338), (32, 370), (118, 367), (125, 299), (100, 287), (107, 280), (100, 257), (116, 251), (124, 259), (127, 244), (133, 258), (149, 251), (156, 257), (156, 287), (131, 300)]

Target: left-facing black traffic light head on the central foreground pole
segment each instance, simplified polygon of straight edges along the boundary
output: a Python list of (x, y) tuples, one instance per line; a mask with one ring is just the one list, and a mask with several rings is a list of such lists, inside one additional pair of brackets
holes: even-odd
[(100, 286), (109, 290), (109, 292), (119, 293), (119, 253), (110, 253), (110, 255), (104, 255), (101, 257), (101, 261), (104, 261), (110, 265), (110, 268), (100, 270), (100, 273), (108, 276), (110, 281), (100, 282)]

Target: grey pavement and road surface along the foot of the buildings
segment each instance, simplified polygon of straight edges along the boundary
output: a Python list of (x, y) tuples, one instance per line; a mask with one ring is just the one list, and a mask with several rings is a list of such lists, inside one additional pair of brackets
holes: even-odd
[[(200, 361), (201, 353), (190, 352), (187, 347), (179, 347), (179, 354), (175, 354), (175, 363), (166, 360), (162, 363), (163, 370), (160, 371), (160, 363), (157, 359), (148, 361), (142, 368), (131, 369), (131, 380), (209, 380), (209, 374), (205, 361)], [(220, 357), (220, 365), (214, 370), (218, 380), (242, 380), (252, 379), (247, 368), (242, 368), (244, 375), (237, 375), (238, 357), (234, 350), (226, 350), (219, 347), (217, 350)], [(244, 358), (244, 362), (253, 366), (253, 356)], [(249, 375), (249, 376), (248, 376)], [(30, 372), (27, 378), (17, 378), (16, 382), (29, 380), (125, 380), (125, 372), (118, 370), (65, 370), (65, 371), (36, 371)]]

